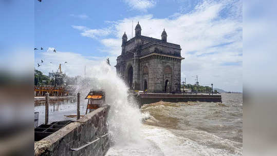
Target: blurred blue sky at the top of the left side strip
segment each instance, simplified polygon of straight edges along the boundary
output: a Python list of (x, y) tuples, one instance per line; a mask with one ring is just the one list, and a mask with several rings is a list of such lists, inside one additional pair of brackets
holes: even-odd
[(7, 0), (0, 2), (0, 18), (3, 22), (0, 29), (1, 50), (16, 46), (24, 47), (23, 45), (33, 46), (33, 42), (30, 44), (34, 35), (33, 3), (31, 1), (17, 3), (18, 5), (14, 5), (14, 1)]

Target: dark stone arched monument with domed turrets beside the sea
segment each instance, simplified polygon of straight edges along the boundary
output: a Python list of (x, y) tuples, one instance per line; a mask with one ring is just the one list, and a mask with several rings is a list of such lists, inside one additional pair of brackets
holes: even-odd
[(131, 89), (180, 93), (181, 60), (184, 58), (180, 45), (167, 42), (165, 30), (161, 40), (143, 36), (138, 23), (131, 40), (127, 41), (127, 35), (123, 34), (121, 47), (115, 67)]

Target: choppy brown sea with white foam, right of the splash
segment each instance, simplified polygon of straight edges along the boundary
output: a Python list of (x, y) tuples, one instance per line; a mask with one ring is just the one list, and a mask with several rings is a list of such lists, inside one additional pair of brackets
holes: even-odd
[(106, 155), (242, 155), (243, 94), (223, 93), (222, 101), (143, 105), (140, 139)]

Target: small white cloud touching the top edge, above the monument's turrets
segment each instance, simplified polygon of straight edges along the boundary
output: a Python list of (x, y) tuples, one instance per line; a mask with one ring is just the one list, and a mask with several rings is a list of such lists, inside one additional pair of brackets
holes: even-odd
[(156, 1), (153, 0), (124, 0), (130, 8), (140, 11), (146, 11), (156, 5)]

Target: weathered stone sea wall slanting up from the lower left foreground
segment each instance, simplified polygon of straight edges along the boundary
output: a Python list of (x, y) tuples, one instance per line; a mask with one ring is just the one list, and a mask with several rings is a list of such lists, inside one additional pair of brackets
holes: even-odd
[[(98, 108), (43, 140), (35, 142), (34, 155), (105, 155), (109, 149), (108, 135), (105, 135), (108, 132), (108, 109), (108, 105)], [(97, 141), (78, 151), (71, 150), (95, 140)]]

